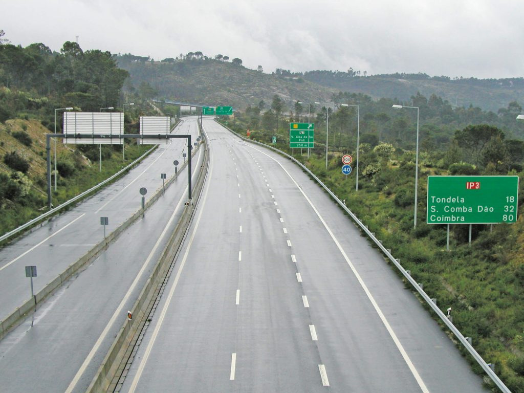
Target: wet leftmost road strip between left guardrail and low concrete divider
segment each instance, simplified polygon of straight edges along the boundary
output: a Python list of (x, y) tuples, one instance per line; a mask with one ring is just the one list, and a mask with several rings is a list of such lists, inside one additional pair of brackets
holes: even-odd
[[(182, 120), (174, 132), (191, 134), (192, 139), (196, 140), (198, 129), (195, 119)], [(160, 145), (123, 178), (4, 247), (0, 252), (0, 320), (31, 297), (25, 266), (37, 266), (38, 276), (34, 278), (37, 293), (103, 239), (101, 216), (109, 219), (106, 226), (106, 234), (109, 234), (140, 208), (141, 187), (148, 190), (147, 202), (162, 187), (160, 173), (171, 177), (174, 174), (173, 160), (183, 163), (182, 152), (187, 152), (185, 139), (176, 138), (169, 145)], [(186, 177), (181, 177), (180, 181), (187, 179), (185, 173)]]

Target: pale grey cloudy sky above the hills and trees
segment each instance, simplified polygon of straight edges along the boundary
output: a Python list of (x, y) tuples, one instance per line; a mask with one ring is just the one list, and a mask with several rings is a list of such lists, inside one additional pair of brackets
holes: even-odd
[(522, 0), (0, 0), (16, 45), (133, 53), (201, 51), (248, 68), (524, 76)]

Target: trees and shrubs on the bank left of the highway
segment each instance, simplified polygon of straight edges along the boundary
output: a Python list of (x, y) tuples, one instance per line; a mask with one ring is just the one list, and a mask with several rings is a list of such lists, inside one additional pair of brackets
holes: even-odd
[[(127, 133), (138, 132), (138, 117), (153, 113), (146, 101), (156, 93), (144, 83), (136, 92), (128, 86), (124, 96), (127, 77), (110, 52), (84, 52), (68, 41), (58, 53), (42, 43), (22, 48), (0, 38), (0, 234), (47, 210), (46, 134), (62, 130), (63, 110), (56, 108), (98, 112), (136, 101), (126, 107), (124, 122)], [(103, 146), (100, 171), (98, 145), (63, 145), (58, 140), (56, 146), (55, 206), (112, 176), (150, 148), (127, 142), (123, 162), (122, 146)]]

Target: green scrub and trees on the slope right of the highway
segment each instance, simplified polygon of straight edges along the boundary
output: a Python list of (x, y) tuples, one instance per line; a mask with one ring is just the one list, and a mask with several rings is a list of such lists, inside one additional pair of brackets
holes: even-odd
[[(319, 130), (315, 134), (315, 146), (318, 147), (312, 150), (309, 158), (303, 155), (305, 149), (302, 154), (300, 149), (294, 149), (294, 157), (346, 201), (384, 246), (411, 270), (413, 278), (423, 283), (429, 296), (437, 299), (443, 312), (448, 307), (453, 309), (453, 323), (463, 334), (472, 337), (475, 349), (486, 361), (495, 363), (497, 374), (505, 384), (515, 393), (524, 392), (524, 220), (519, 217), (516, 224), (494, 225), (493, 231), (489, 225), (474, 225), (471, 247), (467, 241), (468, 225), (452, 225), (451, 252), (445, 250), (446, 226), (425, 223), (428, 175), (522, 176), (524, 150), (514, 149), (512, 145), (522, 146), (521, 142), (510, 142), (501, 129), (481, 124), (456, 130), (440, 146), (441, 151), (423, 149), (419, 157), (419, 222), (413, 228), (414, 151), (401, 148), (401, 145), (409, 146), (410, 142), (407, 138), (392, 138), (394, 133), (385, 129), (380, 141), (369, 138), (362, 143), (357, 192), (355, 172), (347, 179), (341, 173), (342, 155), (349, 152), (356, 158), (354, 149), (346, 145), (345, 137), (347, 143), (351, 141), (356, 147), (350, 135), (343, 133), (339, 143), (340, 119), (337, 121), (337, 116), (341, 116), (342, 108), (330, 114), (328, 169), (325, 168), (325, 145), (322, 143), (325, 141), (325, 132), (321, 133), (322, 112), (315, 114), (321, 121), (320, 126), (315, 124), (315, 132)], [(248, 108), (236, 116), (236, 131), (245, 136), (249, 128), (250, 138), (268, 145), (271, 137), (277, 136), (276, 147), (293, 154), (288, 147), (287, 123), (276, 130), (276, 122), (271, 121), (264, 128), (264, 116), (259, 115), (258, 108)], [(230, 127), (234, 124), (232, 118), (221, 121)], [(424, 133), (421, 145), (430, 137)], [(515, 154), (515, 150), (519, 150), (520, 155)], [(522, 182), (519, 191), (518, 202), (522, 209)], [(465, 354), (462, 348), (461, 351)], [(466, 357), (473, 369), (483, 374), (473, 359)], [(496, 391), (487, 379), (486, 384)]]

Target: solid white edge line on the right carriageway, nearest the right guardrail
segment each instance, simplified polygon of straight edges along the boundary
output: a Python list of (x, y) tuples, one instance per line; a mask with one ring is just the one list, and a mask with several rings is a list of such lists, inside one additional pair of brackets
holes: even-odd
[(351, 270), (353, 271), (353, 274), (355, 275), (355, 277), (357, 278), (358, 280), (358, 283), (361, 285), (362, 289), (364, 290), (364, 292), (366, 293), (366, 296), (367, 298), (369, 299), (369, 301), (371, 302), (371, 304), (373, 305), (373, 308), (375, 309), (376, 313), (378, 314), (380, 320), (382, 321), (382, 323), (384, 324), (384, 326), (386, 327), (386, 330), (388, 331), (389, 335), (391, 336), (391, 339), (393, 340), (393, 342), (395, 343), (395, 345), (397, 346), (397, 349), (399, 350), (400, 354), (402, 355), (402, 358), (404, 359), (404, 361), (406, 362), (407, 366), (409, 367), (409, 370), (411, 371), (411, 374), (413, 375), (413, 377), (416, 379), (420, 389), (423, 391), (423, 393), (430, 393), (429, 390), (428, 390), (428, 387), (425, 386), (424, 384), (424, 381), (422, 380), (422, 378), (420, 377), (420, 374), (419, 372), (417, 371), (417, 369), (415, 368), (415, 366), (413, 365), (413, 363), (411, 362), (411, 359), (408, 355), (408, 353), (406, 352), (406, 350), (404, 349), (404, 347), (402, 346), (402, 343), (400, 342), (400, 340), (398, 339), (397, 335), (395, 334), (395, 332), (393, 331), (393, 329), (391, 328), (391, 325), (389, 324), (389, 322), (387, 321), (386, 319), (386, 316), (384, 315), (384, 313), (382, 312), (382, 310), (380, 310), (380, 307), (378, 307), (378, 304), (377, 302), (375, 301), (375, 298), (373, 297), (373, 295), (371, 294), (371, 292), (369, 291), (369, 289), (367, 288), (366, 286), (366, 283), (364, 282), (364, 280), (362, 279), (362, 277), (358, 274), (358, 271), (356, 270), (355, 266), (353, 265), (353, 263), (351, 262), (350, 258), (347, 256), (346, 252), (344, 251), (344, 249), (342, 248), (341, 244), (339, 243), (339, 241), (336, 239), (335, 235), (333, 234), (333, 232), (331, 231), (330, 227), (328, 226), (328, 224), (324, 221), (324, 219), (322, 218), (322, 216), (320, 215), (320, 212), (315, 208), (315, 206), (313, 205), (313, 202), (311, 202), (311, 200), (308, 198), (308, 195), (305, 194), (304, 190), (302, 190), (302, 188), (300, 187), (300, 185), (297, 183), (296, 180), (294, 180), (294, 178), (291, 176), (291, 174), (286, 170), (286, 168), (284, 168), (282, 166), (282, 164), (276, 160), (275, 158), (271, 157), (270, 155), (266, 154), (264, 151), (261, 151), (261, 150), (258, 150), (257, 148), (255, 147), (252, 147), (253, 149), (257, 150), (258, 152), (260, 152), (261, 154), (264, 154), (265, 156), (269, 157), (270, 159), (274, 160), (276, 163), (278, 163), (278, 165), (280, 166), (280, 168), (282, 168), (282, 170), (284, 172), (287, 173), (287, 175), (289, 176), (289, 178), (291, 179), (291, 181), (297, 186), (297, 188), (299, 189), (299, 191), (302, 193), (302, 195), (304, 196), (305, 200), (308, 201), (309, 205), (311, 206), (311, 208), (313, 209), (313, 211), (315, 212), (316, 216), (319, 217), (319, 220), (322, 222), (322, 224), (324, 225), (324, 228), (326, 229), (326, 231), (328, 231), (329, 235), (331, 236), (331, 238), (333, 239), (333, 242), (336, 244), (337, 248), (339, 249), (340, 253), (342, 254), (342, 256), (344, 257), (344, 259), (346, 260), (346, 263), (350, 266)]

